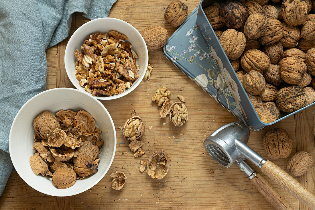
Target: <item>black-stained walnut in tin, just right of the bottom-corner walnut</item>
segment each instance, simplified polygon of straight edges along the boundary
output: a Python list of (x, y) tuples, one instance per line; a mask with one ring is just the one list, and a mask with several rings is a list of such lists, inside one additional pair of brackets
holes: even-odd
[(280, 89), (276, 96), (276, 104), (283, 112), (291, 113), (306, 105), (303, 89), (298, 85)]

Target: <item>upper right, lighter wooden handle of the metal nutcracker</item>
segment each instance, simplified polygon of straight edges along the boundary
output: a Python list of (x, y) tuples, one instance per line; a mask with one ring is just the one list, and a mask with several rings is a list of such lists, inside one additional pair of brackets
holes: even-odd
[(261, 171), (264, 172), (274, 182), (288, 191), (296, 199), (303, 202), (311, 209), (315, 209), (315, 196), (309, 190), (302, 186), (298, 181), (291, 177), (284, 170), (277, 165), (267, 160), (261, 167)]

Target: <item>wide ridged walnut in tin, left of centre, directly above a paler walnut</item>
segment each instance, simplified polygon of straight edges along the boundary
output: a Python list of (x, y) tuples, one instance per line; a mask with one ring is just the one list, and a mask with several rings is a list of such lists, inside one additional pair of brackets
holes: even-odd
[(257, 49), (249, 49), (246, 50), (241, 56), (240, 60), (242, 68), (246, 71), (258, 71), (259, 73), (263, 73), (270, 66), (269, 57)]

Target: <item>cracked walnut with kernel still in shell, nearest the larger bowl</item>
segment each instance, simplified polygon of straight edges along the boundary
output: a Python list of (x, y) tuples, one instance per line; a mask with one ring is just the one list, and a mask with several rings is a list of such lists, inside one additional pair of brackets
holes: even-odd
[(123, 136), (129, 141), (140, 138), (145, 130), (142, 119), (139, 116), (133, 116), (123, 124)]

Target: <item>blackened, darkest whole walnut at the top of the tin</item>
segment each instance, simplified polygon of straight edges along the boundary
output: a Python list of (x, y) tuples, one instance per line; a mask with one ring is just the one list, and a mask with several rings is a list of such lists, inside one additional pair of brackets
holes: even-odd
[(222, 3), (219, 9), (222, 22), (228, 28), (240, 28), (249, 16), (248, 9), (238, 1)]

